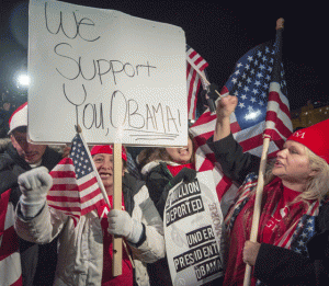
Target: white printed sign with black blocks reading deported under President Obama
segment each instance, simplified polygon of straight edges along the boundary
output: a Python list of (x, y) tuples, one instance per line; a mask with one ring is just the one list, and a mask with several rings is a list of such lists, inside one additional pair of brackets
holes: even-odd
[(173, 286), (202, 285), (224, 275), (224, 221), (212, 171), (169, 192), (163, 220)]

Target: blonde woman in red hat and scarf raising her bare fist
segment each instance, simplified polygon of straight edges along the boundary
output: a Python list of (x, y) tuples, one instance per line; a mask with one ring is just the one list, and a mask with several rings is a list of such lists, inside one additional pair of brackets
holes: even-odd
[[(217, 106), (208, 145), (223, 171), (242, 183), (225, 218), (228, 258), (224, 285), (329, 285), (329, 121), (290, 136), (266, 172), (258, 242), (249, 241), (260, 158), (243, 153), (230, 134), (237, 98)], [(252, 174), (253, 172), (253, 174)]]

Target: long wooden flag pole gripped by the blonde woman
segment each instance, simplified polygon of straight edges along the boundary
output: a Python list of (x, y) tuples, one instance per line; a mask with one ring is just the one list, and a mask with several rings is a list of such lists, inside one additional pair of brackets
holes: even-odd
[[(275, 30), (276, 31), (282, 30), (283, 23), (284, 23), (284, 20), (282, 18), (280, 18), (276, 21)], [(276, 62), (276, 65), (277, 65), (277, 62)], [(280, 62), (279, 62), (279, 65), (280, 65)], [(251, 232), (250, 232), (250, 241), (251, 242), (257, 242), (257, 237), (258, 237), (259, 220), (260, 220), (260, 214), (261, 214), (261, 203), (262, 203), (262, 195), (263, 195), (263, 187), (264, 187), (264, 173), (265, 173), (270, 140), (271, 140), (271, 137), (269, 135), (264, 135), (263, 150), (262, 150), (260, 168), (259, 168), (258, 184), (257, 184), (257, 188), (256, 188), (256, 199), (254, 199), (253, 216), (252, 216), (252, 225), (251, 225)], [(243, 286), (249, 286), (250, 281), (251, 281), (251, 266), (249, 264), (246, 264)]]

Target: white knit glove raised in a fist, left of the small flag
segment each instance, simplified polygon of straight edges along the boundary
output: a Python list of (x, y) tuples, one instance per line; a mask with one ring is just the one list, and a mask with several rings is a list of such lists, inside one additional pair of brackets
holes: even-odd
[(25, 218), (35, 217), (46, 203), (46, 196), (53, 185), (53, 178), (45, 167), (32, 169), (19, 176), (22, 192), (21, 211)]

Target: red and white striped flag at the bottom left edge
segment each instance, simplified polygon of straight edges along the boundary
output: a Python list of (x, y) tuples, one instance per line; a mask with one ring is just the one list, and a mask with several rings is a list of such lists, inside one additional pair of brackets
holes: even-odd
[(8, 190), (0, 196), (0, 285), (20, 286), (23, 285), (21, 255), (10, 192)]

